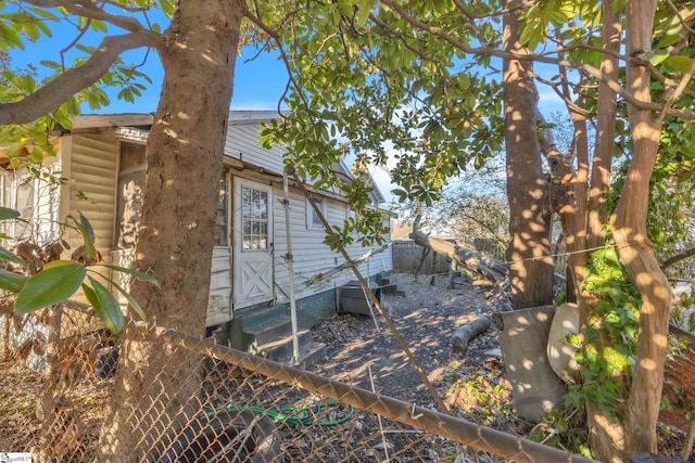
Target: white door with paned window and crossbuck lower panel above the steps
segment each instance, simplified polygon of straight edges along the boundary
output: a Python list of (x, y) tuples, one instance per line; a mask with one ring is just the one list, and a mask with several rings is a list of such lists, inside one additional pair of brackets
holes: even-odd
[(237, 179), (235, 187), (235, 309), (273, 299), (273, 190)]

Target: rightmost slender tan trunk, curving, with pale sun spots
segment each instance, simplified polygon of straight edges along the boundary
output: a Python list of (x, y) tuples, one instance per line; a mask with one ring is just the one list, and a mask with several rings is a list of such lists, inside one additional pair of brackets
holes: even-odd
[[(652, 48), (656, 0), (626, 2), (627, 53)], [(640, 101), (650, 102), (649, 70), (628, 62), (627, 85)], [(628, 104), (633, 153), (624, 187), (611, 217), (620, 261), (642, 297), (640, 331), (632, 387), (628, 400), (628, 455), (657, 450), (656, 425), (664, 385), (671, 288), (647, 237), (649, 179), (659, 149), (661, 120), (652, 112)]]

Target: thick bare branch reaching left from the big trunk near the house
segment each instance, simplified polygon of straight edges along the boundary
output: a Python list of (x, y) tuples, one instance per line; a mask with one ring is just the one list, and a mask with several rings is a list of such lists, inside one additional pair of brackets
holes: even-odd
[(55, 111), (71, 97), (97, 82), (124, 51), (161, 46), (163, 40), (154, 33), (105, 37), (81, 66), (66, 70), (23, 100), (0, 104), (0, 125), (28, 124)]

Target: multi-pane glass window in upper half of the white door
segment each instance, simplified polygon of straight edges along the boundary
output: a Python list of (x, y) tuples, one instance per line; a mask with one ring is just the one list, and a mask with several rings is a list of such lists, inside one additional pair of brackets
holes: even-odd
[(241, 189), (241, 242), (243, 250), (268, 249), (268, 192)]

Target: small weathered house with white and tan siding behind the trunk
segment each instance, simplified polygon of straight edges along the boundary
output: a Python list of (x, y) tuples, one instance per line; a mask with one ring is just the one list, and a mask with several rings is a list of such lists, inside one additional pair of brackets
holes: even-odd
[[(348, 270), (319, 279), (308, 287), (302, 284), (336, 268), (343, 259), (323, 244), (326, 232), (305, 195), (292, 183), (286, 215), (283, 150), (266, 150), (257, 144), (262, 123), (277, 117), (275, 112), (229, 114), (206, 324), (211, 331), (217, 329), (232, 337), (247, 331), (240, 320), (250, 320), (269, 307), (287, 309), (291, 276), (303, 326), (332, 313), (336, 287), (355, 279)], [(16, 223), (10, 232), (39, 242), (54, 240), (63, 232), (63, 239), (75, 248), (80, 243), (79, 235), (61, 230), (56, 223), (80, 211), (91, 222), (104, 259), (127, 266), (137, 241), (144, 189), (144, 144), (151, 124), (151, 114), (77, 117), (72, 130), (56, 134), (56, 156), (43, 163), (43, 171), (70, 179), (66, 182), (36, 178), (26, 169), (4, 170), (2, 204), (17, 208), (28, 220)], [(350, 175), (342, 163), (333, 168)], [(352, 214), (340, 191), (311, 192), (331, 224)], [(381, 201), (375, 190), (374, 207), (379, 207)], [(288, 236), (292, 275), (287, 261)], [(369, 250), (359, 245), (348, 248), (352, 258)], [(390, 248), (361, 265), (365, 278), (374, 279), (390, 270)]]

